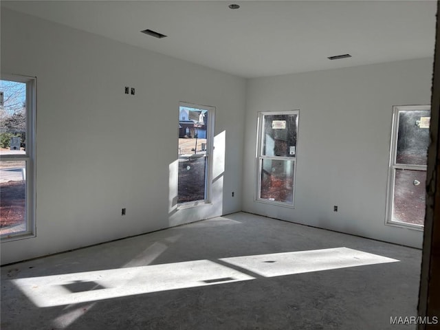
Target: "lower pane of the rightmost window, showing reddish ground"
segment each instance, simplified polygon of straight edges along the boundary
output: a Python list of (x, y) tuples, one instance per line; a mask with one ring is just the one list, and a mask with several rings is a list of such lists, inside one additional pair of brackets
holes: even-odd
[(395, 170), (393, 221), (423, 225), (426, 170)]

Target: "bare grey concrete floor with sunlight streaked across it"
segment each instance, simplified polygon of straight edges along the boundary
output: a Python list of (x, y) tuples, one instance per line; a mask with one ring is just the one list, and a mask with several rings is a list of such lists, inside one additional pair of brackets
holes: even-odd
[(414, 329), (420, 263), (241, 212), (1, 267), (1, 329)]

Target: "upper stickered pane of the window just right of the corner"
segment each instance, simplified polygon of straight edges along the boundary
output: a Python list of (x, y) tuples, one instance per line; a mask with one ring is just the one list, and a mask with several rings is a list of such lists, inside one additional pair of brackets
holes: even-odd
[(297, 115), (264, 115), (263, 151), (265, 156), (295, 157)]

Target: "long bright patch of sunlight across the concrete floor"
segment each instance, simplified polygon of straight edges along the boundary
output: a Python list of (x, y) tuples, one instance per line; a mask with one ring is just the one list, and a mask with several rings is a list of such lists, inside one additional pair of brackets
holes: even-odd
[[(397, 261), (349, 248), (333, 248), (238, 256), (217, 261), (185, 261), (19, 278), (10, 281), (17, 285), (37, 307), (54, 307), (173, 289)], [(228, 264), (234, 267), (228, 267)]]

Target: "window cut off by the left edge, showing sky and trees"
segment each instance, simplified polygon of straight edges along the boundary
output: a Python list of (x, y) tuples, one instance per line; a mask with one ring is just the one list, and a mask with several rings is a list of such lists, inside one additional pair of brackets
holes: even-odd
[(35, 78), (0, 80), (1, 240), (34, 234)]

